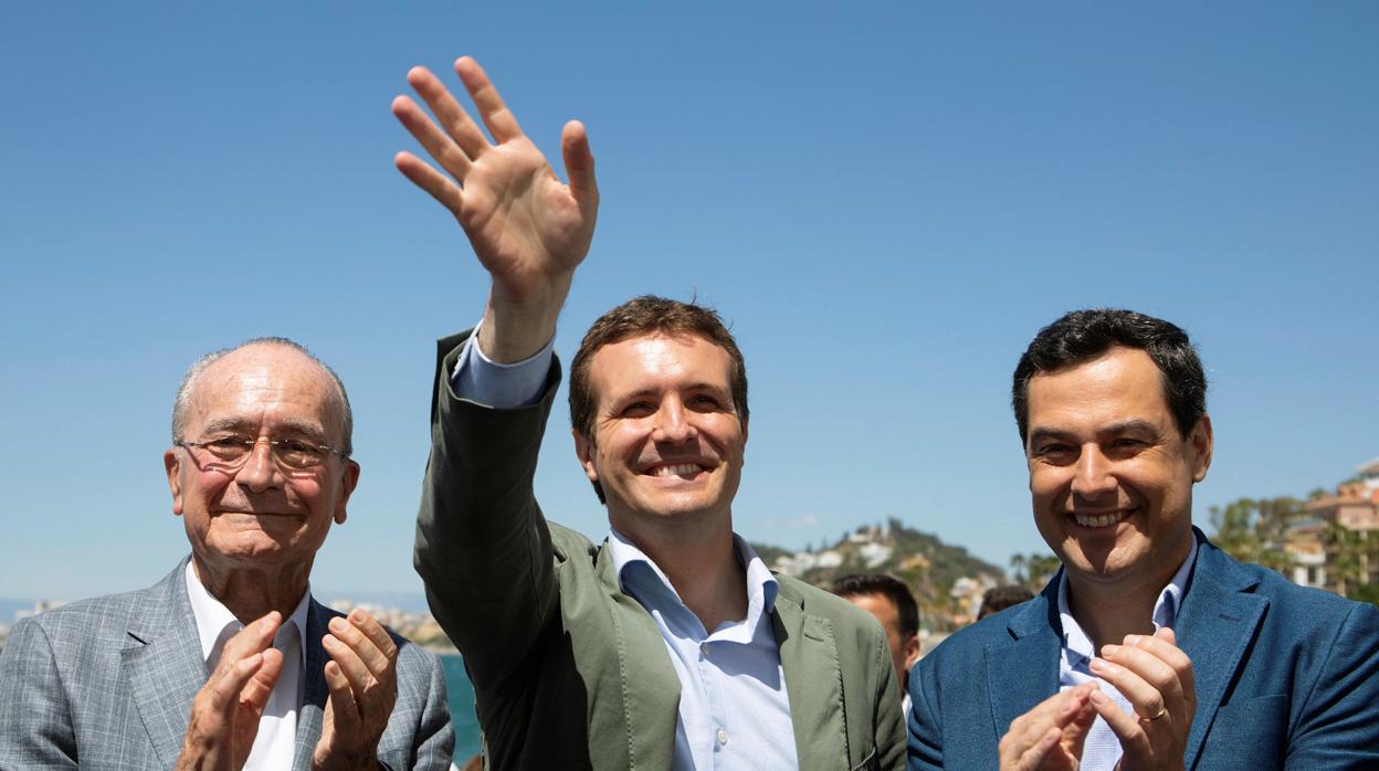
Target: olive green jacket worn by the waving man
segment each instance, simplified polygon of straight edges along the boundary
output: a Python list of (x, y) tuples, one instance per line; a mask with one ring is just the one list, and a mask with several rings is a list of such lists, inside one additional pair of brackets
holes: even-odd
[[(670, 768), (680, 681), (612, 559), (547, 524), (532, 494), (560, 383), (496, 410), (455, 397), (466, 334), (439, 342), (416, 570), (465, 657), (490, 768)], [(772, 623), (801, 768), (900, 768), (905, 727), (880, 625), (778, 575)]]

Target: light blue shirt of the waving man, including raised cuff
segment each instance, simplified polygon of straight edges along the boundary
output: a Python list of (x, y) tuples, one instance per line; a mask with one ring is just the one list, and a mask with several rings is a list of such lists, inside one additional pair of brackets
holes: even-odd
[[(498, 408), (541, 399), (554, 341), (525, 361), (498, 364), (479, 349), (477, 337), (476, 327), (451, 374), (456, 396)], [(797, 768), (790, 698), (771, 623), (779, 583), (742, 538), (734, 534), (732, 541), (746, 570), (747, 615), (712, 633), (626, 537), (611, 531), (607, 549), (622, 590), (655, 619), (680, 679), (673, 768)]]

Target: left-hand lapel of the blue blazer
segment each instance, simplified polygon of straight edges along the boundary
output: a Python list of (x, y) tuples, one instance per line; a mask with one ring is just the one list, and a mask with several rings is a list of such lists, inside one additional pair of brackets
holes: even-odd
[[(986, 647), (986, 690), (998, 742), (1011, 721), (1058, 692), (1063, 625), (1058, 618), (1058, 582), (1062, 571), (1020, 610), (1012, 614), (1009, 641)], [(1033, 662), (1038, 662), (1031, 666)]]

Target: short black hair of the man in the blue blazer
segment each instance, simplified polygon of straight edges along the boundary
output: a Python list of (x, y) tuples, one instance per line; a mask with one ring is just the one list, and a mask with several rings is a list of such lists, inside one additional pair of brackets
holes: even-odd
[(1134, 310), (1092, 308), (1066, 313), (1040, 330), (1015, 366), (1011, 407), (1020, 428), (1020, 441), (1029, 439), (1030, 379), (1040, 372), (1091, 361), (1113, 346), (1143, 350), (1154, 360), (1178, 433), (1185, 437), (1191, 433), (1207, 414), (1207, 375), (1187, 332)]

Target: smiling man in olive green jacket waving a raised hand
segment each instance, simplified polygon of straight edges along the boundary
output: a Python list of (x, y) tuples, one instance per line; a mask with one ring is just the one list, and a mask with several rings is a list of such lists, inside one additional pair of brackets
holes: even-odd
[(472, 59), (491, 143), (423, 69), (444, 130), (393, 110), (448, 172), (399, 168), (450, 208), (492, 277), (479, 331), (440, 341), (416, 568), (465, 654), (494, 768), (898, 768), (903, 727), (876, 621), (772, 577), (732, 531), (747, 441), (742, 353), (716, 314), (638, 298), (571, 366), (575, 455), (607, 505), (593, 545), (532, 494), (560, 382), (556, 317), (594, 228), (585, 130), (560, 183)]

